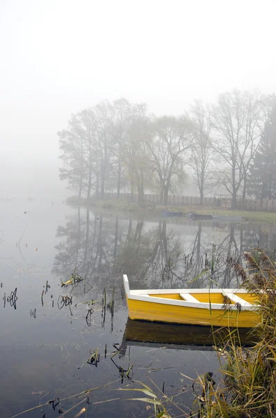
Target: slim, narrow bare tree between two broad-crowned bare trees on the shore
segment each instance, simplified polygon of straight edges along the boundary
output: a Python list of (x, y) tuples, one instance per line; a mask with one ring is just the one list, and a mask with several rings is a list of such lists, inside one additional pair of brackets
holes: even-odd
[(212, 187), (211, 183), (207, 184), (207, 182), (212, 174), (213, 147), (211, 146), (209, 115), (199, 100), (195, 100), (191, 106), (190, 118), (195, 125), (195, 137), (187, 164), (200, 192), (200, 206), (203, 206), (204, 195), (210, 192)]

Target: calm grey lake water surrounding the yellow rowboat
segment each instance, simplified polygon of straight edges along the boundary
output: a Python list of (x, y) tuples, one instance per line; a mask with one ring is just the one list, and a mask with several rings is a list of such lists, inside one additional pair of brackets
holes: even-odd
[[(258, 245), (275, 250), (275, 226), (137, 219), (51, 200), (0, 201), (0, 417), (48, 401), (54, 403), (19, 416), (58, 417), (79, 403), (66, 417), (83, 407), (81, 417), (148, 417), (153, 405), (127, 401), (147, 397), (143, 392), (117, 390), (138, 388), (137, 381), (160, 398), (163, 387), (177, 395), (177, 407), (168, 405), (175, 416), (178, 408), (190, 412), (195, 394), (179, 373), (195, 378), (213, 371), (218, 378), (216, 353), (202, 346), (208, 336), (187, 327), (133, 327), (122, 274), (131, 288), (236, 287), (227, 259), (241, 261), (243, 251)], [(75, 268), (83, 281), (61, 287)], [(96, 350), (99, 362), (89, 364)], [(73, 396), (100, 386), (89, 404)]]

